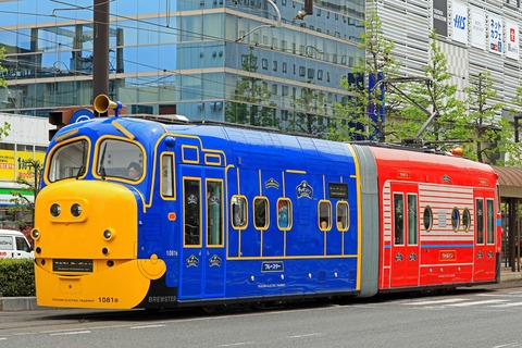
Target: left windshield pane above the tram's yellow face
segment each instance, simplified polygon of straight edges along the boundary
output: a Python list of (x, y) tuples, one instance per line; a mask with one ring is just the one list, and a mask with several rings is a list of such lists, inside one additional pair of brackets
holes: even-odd
[(89, 146), (82, 139), (59, 147), (51, 157), (48, 178), (53, 183), (67, 177), (79, 177), (87, 172)]

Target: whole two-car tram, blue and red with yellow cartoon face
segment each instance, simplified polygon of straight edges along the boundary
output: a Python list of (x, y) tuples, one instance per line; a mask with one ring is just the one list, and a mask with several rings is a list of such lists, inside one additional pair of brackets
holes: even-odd
[(95, 119), (60, 129), (46, 156), (37, 302), (153, 309), (496, 282), (497, 207), (496, 174), (462, 158)]

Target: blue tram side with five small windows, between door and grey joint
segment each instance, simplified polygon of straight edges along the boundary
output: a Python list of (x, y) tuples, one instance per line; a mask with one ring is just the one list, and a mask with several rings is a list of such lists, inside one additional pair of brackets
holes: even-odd
[[(285, 144), (285, 137), (282, 138)], [(274, 157), (266, 167), (257, 158), (259, 149), (239, 147), (250, 150), (249, 159), (227, 172), (232, 203), (227, 232), (228, 298), (357, 290), (357, 215), (350, 210), (356, 209), (357, 202), (353, 199), (352, 208), (347, 208), (348, 197), (334, 199), (328, 196), (327, 188), (331, 182), (345, 182), (357, 197), (357, 186), (355, 179), (348, 183), (349, 175), (323, 174), (335, 173), (339, 166), (347, 166), (340, 161), (351, 160), (346, 153), (337, 156), (338, 162), (332, 162), (330, 167), (316, 165), (311, 172), (312, 165), (303, 161), (306, 157), (299, 153), (301, 148), (295, 146), (294, 139), (287, 137), (289, 145), (286, 144), (284, 151), (283, 147), (278, 149), (285, 156)], [(233, 158), (244, 159), (239, 152)], [(314, 156), (319, 159), (320, 154)], [(264, 228), (259, 225), (254, 213), (256, 201), (262, 203), (263, 199), (268, 199), (270, 211), (270, 222)], [(240, 204), (248, 207), (246, 219), (236, 223), (234, 203), (241, 200)], [(334, 219), (339, 201), (344, 201), (340, 209), (346, 208), (345, 214), (350, 214), (355, 227), (338, 228)], [(327, 220), (325, 227), (321, 227), (323, 217)]]

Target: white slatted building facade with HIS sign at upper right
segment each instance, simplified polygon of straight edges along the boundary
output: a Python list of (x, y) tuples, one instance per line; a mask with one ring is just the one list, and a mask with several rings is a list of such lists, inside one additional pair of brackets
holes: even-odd
[(513, 103), (522, 87), (520, 61), (520, 0), (408, 0), (376, 1), (383, 34), (395, 42), (394, 55), (405, 76), (424, 76), (430, 59), (430, 34), (437, 34), (446, 55), (457, 98), (465, 100), (470, 77), (489, 72), (505, 107), (498, 116), (521, 113)]

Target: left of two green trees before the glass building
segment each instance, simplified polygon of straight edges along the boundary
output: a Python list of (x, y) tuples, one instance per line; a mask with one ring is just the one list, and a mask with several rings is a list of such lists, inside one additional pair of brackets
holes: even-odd
[[(272, 94), (266, 82), (256, 77), (258, 71), (258, 58), (253, 54), (253, 48), (243, 57), (241, 67), (249, 73), (238, 79), (233, 100), (225, 107), (225, 121), (250, 124), (252, 126), (278, 127), (275, 116), (275, 103), (269, 102)], [(266, 105), (268, 104), (268, 105)]]

